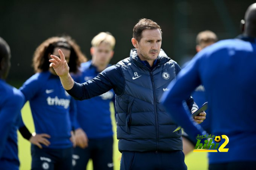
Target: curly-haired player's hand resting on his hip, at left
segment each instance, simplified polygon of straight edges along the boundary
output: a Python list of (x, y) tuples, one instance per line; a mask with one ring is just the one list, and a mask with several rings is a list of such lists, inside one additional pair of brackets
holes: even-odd
[(38, 148), (42, 149), (42, 145), (41, 144), (44, 144), (45, 146), (49, 146), (50, 145), (50, 142), (49, 140), (47, 140), (46, 138), (51, 138), (51, 136), (49, 134), (46, 134), (46, 133), (42, 133), (42, 134), (32, 134), (32, 136), (30, 137), (29, 141), (38, 146)]

